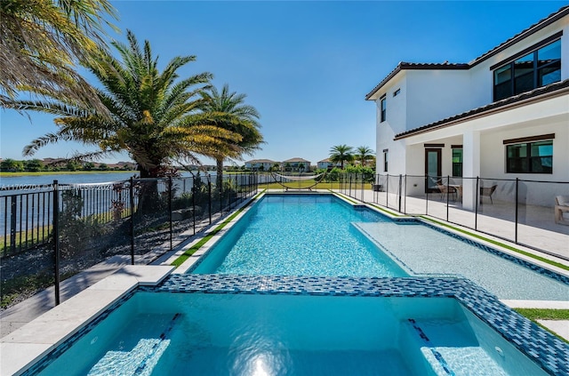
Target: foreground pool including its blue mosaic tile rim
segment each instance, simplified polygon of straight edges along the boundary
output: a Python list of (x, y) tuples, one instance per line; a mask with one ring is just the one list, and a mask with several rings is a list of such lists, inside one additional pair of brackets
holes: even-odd
[[(536, 361), (567, 370), (566, 345), (457, 280), (172, 275), (142, 290), (39, 374), (547, 374)], [(480, 314), (504, 319), (503, 332)], [(546, 356), (552, 347), (558, 358)]]

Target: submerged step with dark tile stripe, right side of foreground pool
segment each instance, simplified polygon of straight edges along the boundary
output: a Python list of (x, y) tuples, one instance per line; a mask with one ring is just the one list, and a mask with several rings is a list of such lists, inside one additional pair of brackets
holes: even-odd
[(479, 346), (468, 324), (413, 318), (406, 324), (420, 343), (422, 356), (437, 376), (508, 375)]

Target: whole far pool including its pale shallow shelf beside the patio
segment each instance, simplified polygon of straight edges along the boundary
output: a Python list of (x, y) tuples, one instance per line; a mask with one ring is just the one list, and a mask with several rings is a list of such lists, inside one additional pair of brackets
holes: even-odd
[(501, 299), (567, 300), (569, 278), (333, 195), (265, 195), (189, 273), (458, 276)]

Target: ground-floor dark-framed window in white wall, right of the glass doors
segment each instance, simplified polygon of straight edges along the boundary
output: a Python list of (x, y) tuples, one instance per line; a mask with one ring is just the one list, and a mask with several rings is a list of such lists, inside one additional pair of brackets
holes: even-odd
[(506, 145), (506, 172), (553, 173), (553, 140)]

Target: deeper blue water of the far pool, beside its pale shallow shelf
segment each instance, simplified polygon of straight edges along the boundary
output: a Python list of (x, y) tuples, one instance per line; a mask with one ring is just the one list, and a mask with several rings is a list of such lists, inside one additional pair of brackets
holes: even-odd
[(409, 276), (354, 226), (388, 221), (333, 195), (266, 195), (192, 273)]

